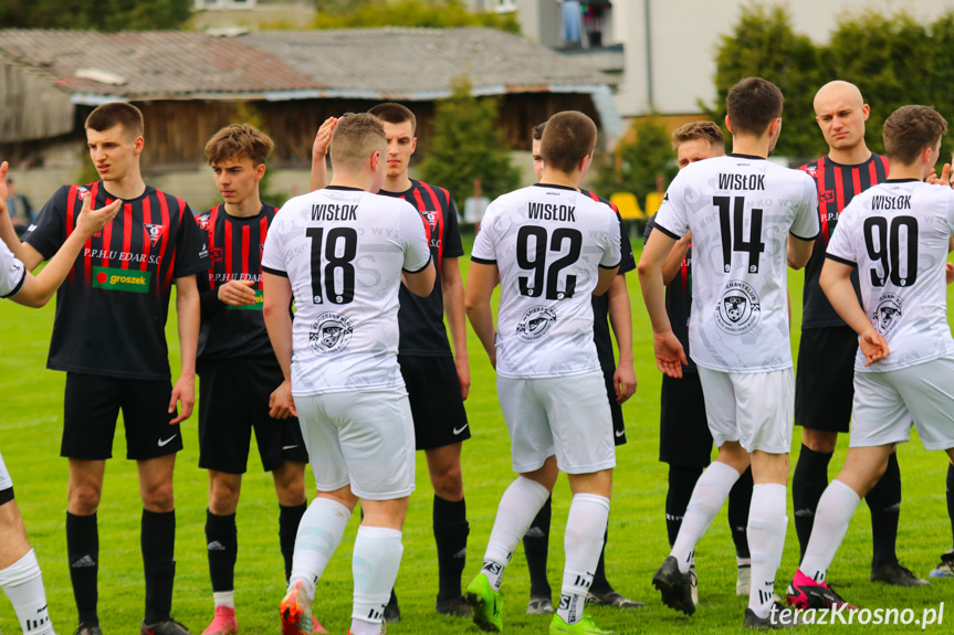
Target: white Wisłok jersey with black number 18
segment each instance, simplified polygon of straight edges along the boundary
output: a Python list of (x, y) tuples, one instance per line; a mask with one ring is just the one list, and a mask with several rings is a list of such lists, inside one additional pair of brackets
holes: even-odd
[(295, 297), (292, 394), (403, 387), (401, 271), (430, 260), (421, 216), (400, 199), (328, 187), (285, 203), (262, 269), (286, 276)]

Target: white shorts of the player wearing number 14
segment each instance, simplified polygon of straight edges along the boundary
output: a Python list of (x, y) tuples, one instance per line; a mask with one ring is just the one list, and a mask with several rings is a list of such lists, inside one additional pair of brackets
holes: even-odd
[(791, 451), (795, 372), (790, 368), (752, 373), (698, 368), (716, 447), (737, 441), (746, 452)]

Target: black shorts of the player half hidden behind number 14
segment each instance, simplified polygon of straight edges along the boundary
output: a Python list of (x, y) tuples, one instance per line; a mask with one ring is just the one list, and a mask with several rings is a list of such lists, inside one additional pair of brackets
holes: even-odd
[(712, 461), (712, 434), (699, 374), (682, 379), (662, 375), (659, 417), (659, 461), (684, 467), (705, 467)]

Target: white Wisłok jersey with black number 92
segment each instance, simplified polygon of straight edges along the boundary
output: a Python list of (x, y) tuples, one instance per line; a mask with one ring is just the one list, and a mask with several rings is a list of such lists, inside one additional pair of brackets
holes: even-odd
[(573, 188), (531, 186), (488, 208), (472, 260), (500, 271), (497, 374), (546, 378), (599, 370), (593, 341), (598, 268), (619, 266), (619, 221)]

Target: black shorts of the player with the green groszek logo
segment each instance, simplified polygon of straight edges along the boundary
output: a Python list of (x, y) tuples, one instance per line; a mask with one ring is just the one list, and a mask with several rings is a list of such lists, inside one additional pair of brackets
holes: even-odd
[(144, 461), (182, 449), (179, 424), (169, 425), (172, 385), (167, 379), (120, 379), (66, 373), (60, 456), (83, 461), (113, 457), (116, 417), (123, 411), (126, 458)]

